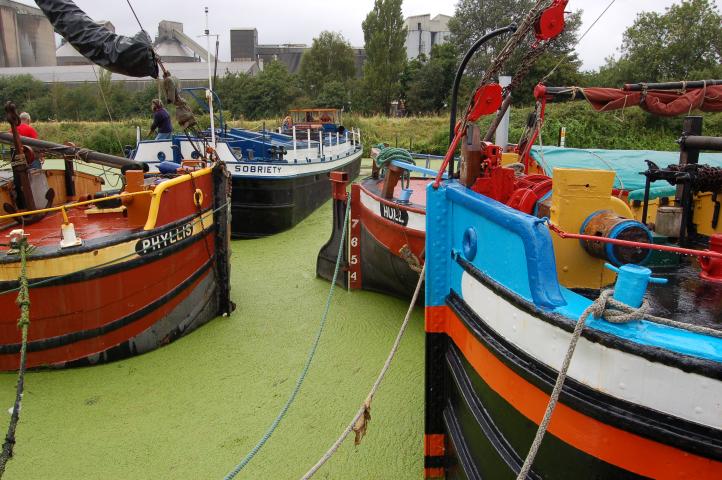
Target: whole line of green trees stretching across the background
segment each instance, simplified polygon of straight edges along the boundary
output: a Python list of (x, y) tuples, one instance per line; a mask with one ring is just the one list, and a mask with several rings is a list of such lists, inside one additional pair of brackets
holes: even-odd
[[(481, 35), (518, 21), (533, 0), (459, 0), (449, 22), (448, 43), (435, 45), (427, 57), (407, 60), (402, 0), (375, 0), (362, 23), (366, 61), (357, 75), (354, 51), (339, 33), (322, 32), (303, 55), (298, 74), (270, 62), (255, 76), (229, 74), (215, 90), (233, 118), (270, 118), (293, 107), (343, 108), (360, 114), (387, 114), (392, 102), (409, 114), (439, 114), (448, 108), (449, 94), (461, 56)], [(602, 20), (595, 28), (604, 28)], [(722, 15), (710, 0), (682, 0), (663, 13), (643, 12), (624, 33), (618, 54), (595, 71), (583, 71), (575, 52), (581, 12), (567, 17), (567, 29), (531, 67), (514, 94), (517, 104), (532, 101), (534, 84), (621, 86), (627, 82), (659, 82), (721, 78)], [(496, 40), (469, 64), (462, 95), (498, 51)], [(523, 52), (510, 61), (513, 74)], [(107, 120), (148, 115), (154, 85), (133, 91), (110, 82), (107, 72), (97, 83), (46, 85), (30, 76), (0, 77), (0, 98), (12, 99), (38, 119)], [(462, 97), (464, 98), (464, 97)], [(462, 100), (463, 103), (463, 100)]]

